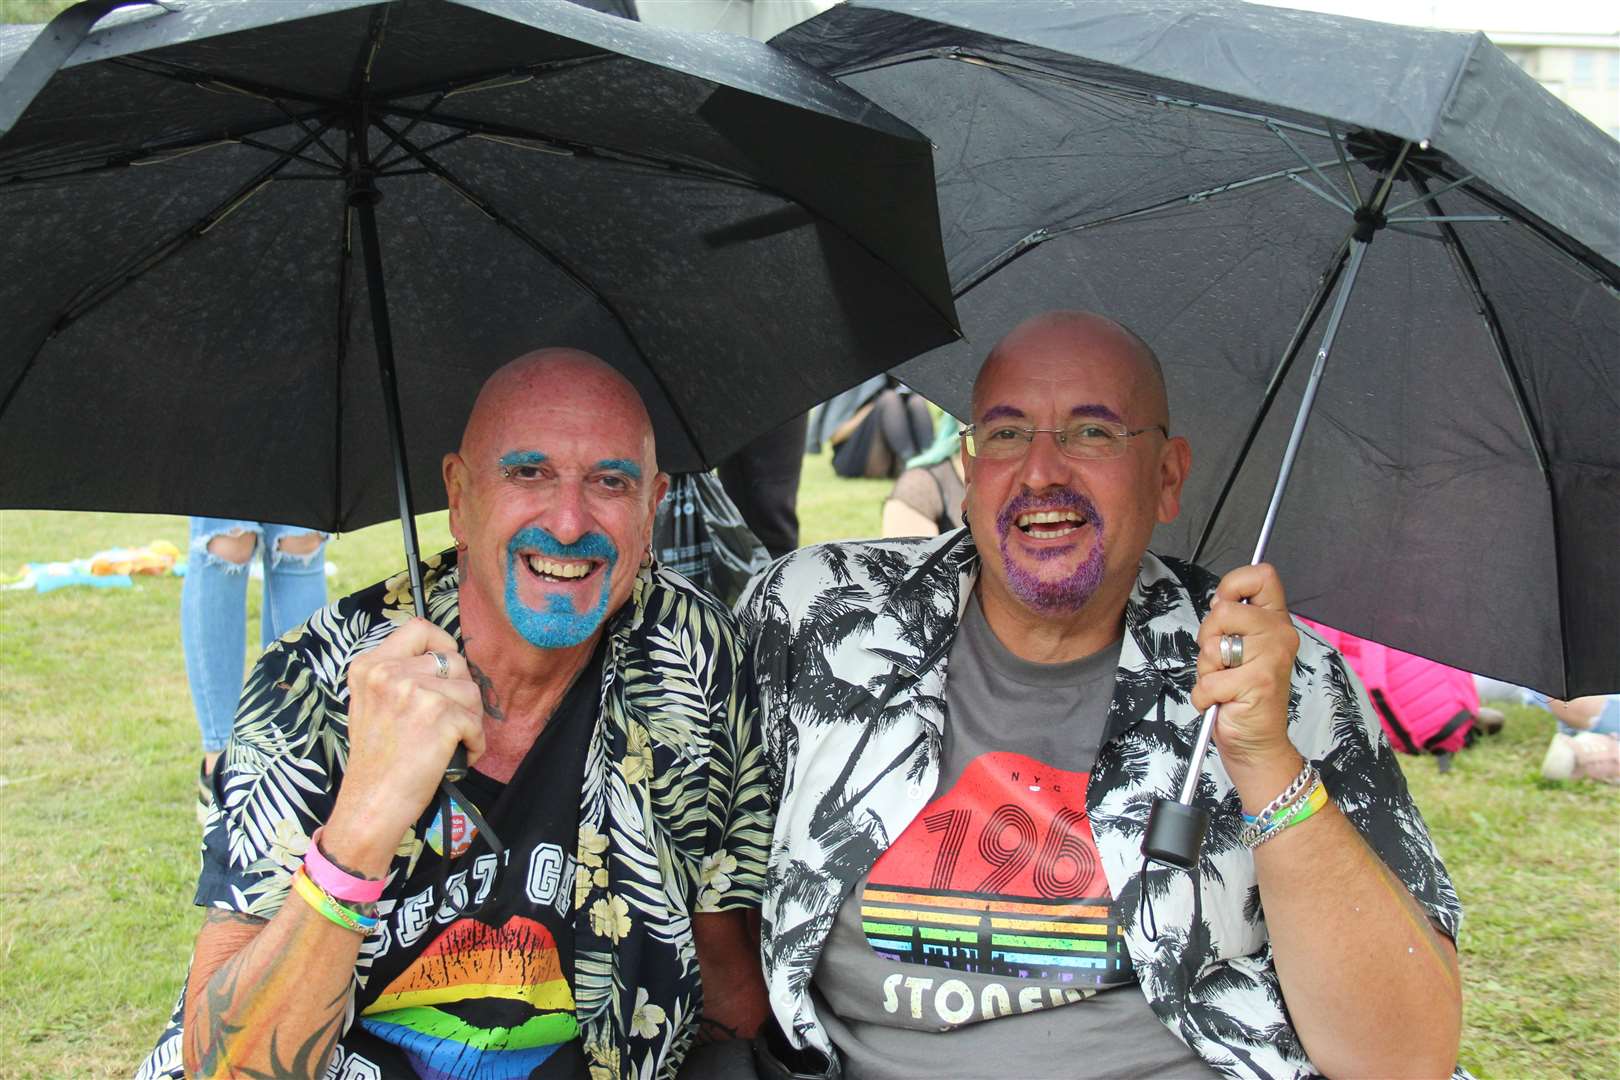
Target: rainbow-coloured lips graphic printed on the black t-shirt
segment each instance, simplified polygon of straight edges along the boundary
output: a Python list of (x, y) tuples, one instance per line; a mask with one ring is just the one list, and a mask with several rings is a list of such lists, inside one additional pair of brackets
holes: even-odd
[(557, 944), (522, 916), (454, 923), (360, 1022), (423, 1080), (520, 1080), (580, 1033)]

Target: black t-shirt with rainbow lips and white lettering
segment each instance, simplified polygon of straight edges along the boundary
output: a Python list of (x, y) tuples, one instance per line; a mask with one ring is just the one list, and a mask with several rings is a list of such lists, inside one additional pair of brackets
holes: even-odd
[(403, 891), (389, 889), (403, 899), (381, 905), (382, 939), (329, 1075), (588, 1075), (573, 1018), (573, 852), (601, 662), (598, 648), (509, 784), (471, 772), (458, 785), (507, 848), (496, 891), (496, 853), (452, 811), (447, 889), (457, 908), (471, 900), (470, 915), (436, 904), (437, 800), (423, 813), (426, 847)]

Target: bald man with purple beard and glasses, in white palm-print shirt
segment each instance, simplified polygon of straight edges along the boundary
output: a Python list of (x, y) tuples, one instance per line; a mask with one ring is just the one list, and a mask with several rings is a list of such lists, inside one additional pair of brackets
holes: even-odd
[[(784, 790), (774, 1051), (850, 1080), (1452, 1074), (1460, 908), (1366, 691), (1273, 568), (1149, 551), (1192, 465), (1152, 348), (1029, 319), (962, 450), (964, 529), (804, 549), (739, 602)], [(1210, 704), (1199, 871), (1144, 863)]]

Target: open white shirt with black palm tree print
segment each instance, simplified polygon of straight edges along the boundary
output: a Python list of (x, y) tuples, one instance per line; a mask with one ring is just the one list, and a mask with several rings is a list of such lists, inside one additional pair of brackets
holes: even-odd
[[(761, 913), (765, 976), (795, 1044), (831, 1049), (810, 996), (821, 947), (854, 884), (935, 797), (949, 644), (977, 575), (966, 529), (823, 544), (773, 563), (739, 601), (781, 789)], [(1155, 1015), (1228, 1075), (1307, 1077), (1315, 1070), (1283, 1006), (1254, 857), (1238, 840), (1241, 801), (1217, 750), (1197, 784), (1196, 801), (1212, 811), (1197, 871), (1153, 863), (1144, 873), (1147, 813), (1179, 792), (1199, 730), (1197, 628), (1215, 581), (1199, 567), (1144, 557), (1085, 810)], [(1338, 808), (1455, 939), (1456, 894), (1366, 690), (1304, 628), (1288, 732)]]

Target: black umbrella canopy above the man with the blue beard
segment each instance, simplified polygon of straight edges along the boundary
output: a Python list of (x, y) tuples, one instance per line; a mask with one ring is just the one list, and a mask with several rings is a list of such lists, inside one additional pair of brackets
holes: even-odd
[(954, 337), (927, 142), (763, 44), (514, 0), (167, 8), (49, 81), (50, 32), (0, 31), (0, 505), (394, 517), (389, 340), (434, 508), (530, 348), (619, 366), (690, 470)]

